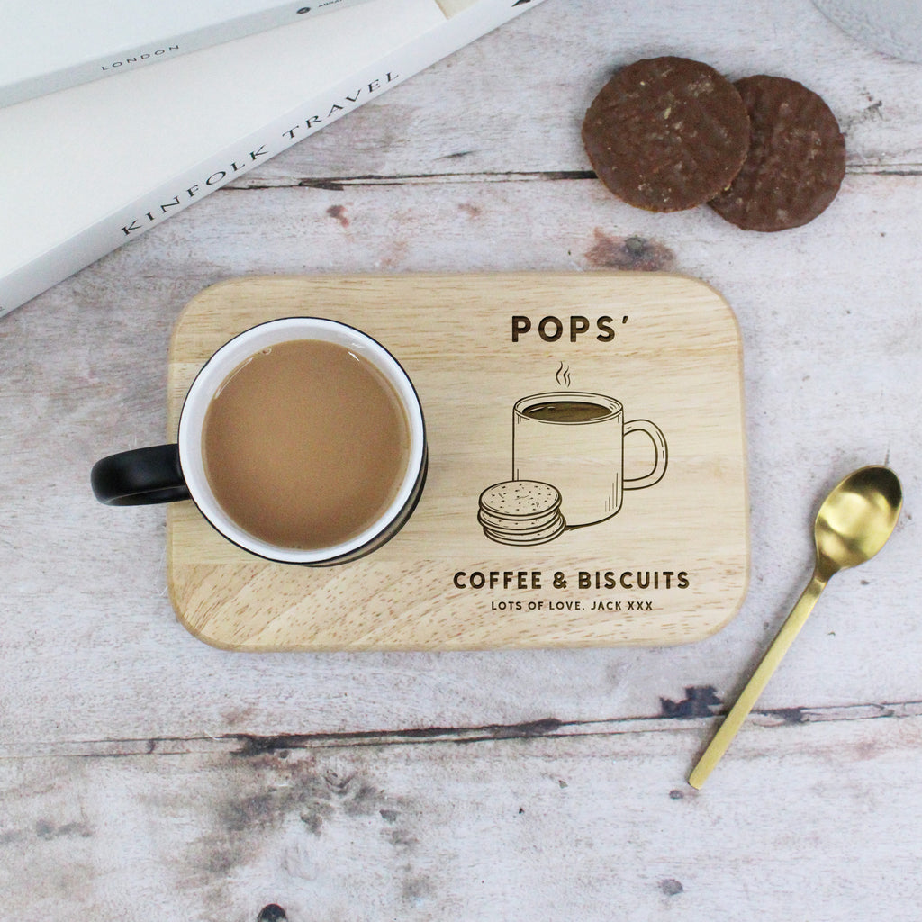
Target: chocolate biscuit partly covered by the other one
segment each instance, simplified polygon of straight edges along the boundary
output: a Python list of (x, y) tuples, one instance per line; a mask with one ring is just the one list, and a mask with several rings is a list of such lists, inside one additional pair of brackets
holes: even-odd
[(736, 87), (750, 116), (750, 152), (711, 207), (745, 231), (807, 224), (833, 201), (845, 176), (845, 138), (832, 110), (786, 77), (744, 77)]

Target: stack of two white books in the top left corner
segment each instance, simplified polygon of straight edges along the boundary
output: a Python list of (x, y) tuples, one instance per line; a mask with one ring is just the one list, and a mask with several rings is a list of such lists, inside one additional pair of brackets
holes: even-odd
[(13, 0), (0, 315), (539, 2)]

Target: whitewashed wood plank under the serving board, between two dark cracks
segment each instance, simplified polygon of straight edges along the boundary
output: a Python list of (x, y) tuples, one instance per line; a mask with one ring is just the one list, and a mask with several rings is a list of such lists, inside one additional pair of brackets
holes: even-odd
[[(907, 495), (892, 543), (833, 580), (762, 704), (917, 700), (920, 214), (922, 180), (851, 176), (821, 219), (778, 235), (704, 209), (649, 215), (591, 181), (228, 191), (171, 219), (0, 325), (6, 743), (651, 716), (686, 687), (728, 701), (807, 578), (822, 494), (887, 459)], [(162, 511), (104, 509), (89, 494), (97, 457), (163, 438), (171, 323), (211, 282), (607, 266), (703, 278), (742, 329), (751, 586), (702, 644), (229, 656), (173, 619)]]

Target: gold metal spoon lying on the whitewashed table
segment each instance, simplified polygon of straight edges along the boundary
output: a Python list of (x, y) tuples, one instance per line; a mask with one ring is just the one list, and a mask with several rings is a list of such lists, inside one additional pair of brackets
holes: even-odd
[(869, 561), (890, 538), (903, 505), (900, 481), (889, 467), (861, 467), (840, 481), (826, 497), (816, 514), (813, 534), (816, 540), (816, 565), (813, 576), (787, 616), (762, 662), (752, 674), (689, 775), (692, 787), (701, 787), (714, 770), (730, 741), (752, 710), (752, 705), (768, 684), (775, 668), (794, 642), (798, 631), (816, 604), (831, 576), (848, 567)]

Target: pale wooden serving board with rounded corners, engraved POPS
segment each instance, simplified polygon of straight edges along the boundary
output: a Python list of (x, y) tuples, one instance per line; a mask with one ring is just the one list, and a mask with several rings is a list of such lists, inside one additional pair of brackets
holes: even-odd
[[(742, 357), (715, 290), (631, 272), (234, 279), (202, 291), (176, 324), (171, 440), (208, 356), (249, 326), (296, 314), (357, 326), (401, 361), (426, 416), (429, 479), (396, 538), (326, 568), (256, 558), (192, 502), (173, 503), (171, 599), (195, 636), (249, 651), (678, 644), (737, 612), (749, 573)], [(479, 497), (513, 478), (516, 402), (549, 393), (615, 398), (625, 421), (653, 421), (665, 474), (623, 491), (604, 521), (538, 529), (537, 542), (520, 542), (522, 521), (501, 517), (499, 534), (514, 541), (502, 543), (481, 526)], [(559, 452), (543, 433), (563, 428), (532, 433), (538, 458), (526, 467), (538, 473), (528, 479), (542, 479), (542, 453)], [(609, 423), (594, 442), (587, 426), (569, 431), (569, 460), (549, 468), (567, 481), (565, 516), (583, 515), (576, 493), (596, 502), (600, 472), (617, 478), (619, 443), (625, 478), (655, 465), (644, 431), (621, 439)]]

